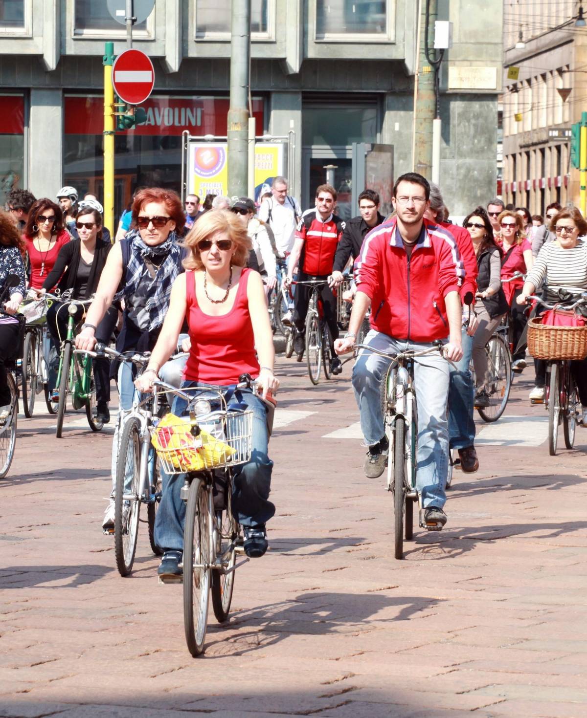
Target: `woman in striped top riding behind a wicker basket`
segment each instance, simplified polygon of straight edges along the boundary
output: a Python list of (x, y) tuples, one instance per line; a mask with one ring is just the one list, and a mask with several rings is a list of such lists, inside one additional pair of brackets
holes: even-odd
[[(524, 304), (530, 294), (535, 294), (542, 283), (547, 284), (547, 301), (558, 302), (558, 290), (548, 287), (566, 286), (587, 292), (587, 222), (576, 207), (560, 210), (551, 224), (556, 239), (545, 244), (537, 256), (536, 264), (528, 274), (524, 289), (517, 298)], [(583, 405), (581, 424), (587, 426), (587, 359), (571, 362), (579, 398)], [(544, 401), (546, 362), (535, 360), (535, 386), (530, 392), (531, 401)]]

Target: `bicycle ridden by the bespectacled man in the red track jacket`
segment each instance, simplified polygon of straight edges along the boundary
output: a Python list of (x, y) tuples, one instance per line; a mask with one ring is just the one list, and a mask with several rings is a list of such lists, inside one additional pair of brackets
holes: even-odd
[[(424, 508), (416, 488), (417, 472), (417, 406), (414, 386), (414, 360), (417, 357), (443, 351), (442, 342), (420, 352), (407, 350), (390, 354), (368, 344), (356, 344), (355, 349), (368, 350), (391, 359), (384, 381), (384, 431), (389, 442), (387, 460), (387, 490), (394, 495), (394, 556), (403, 559), (404, 537), (413, 538), (414, 503), (420, 514), (419, 526), (427, 531), (440, 531), (424, 521)], [(446, 358), (445, 358), (446, 359)], [(449, 359), (446, 359), (449, 363)]]

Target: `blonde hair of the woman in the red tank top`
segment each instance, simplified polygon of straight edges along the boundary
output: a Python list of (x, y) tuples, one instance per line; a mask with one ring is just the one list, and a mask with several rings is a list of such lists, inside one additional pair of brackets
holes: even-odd
[(211, 239), (220, 233), (228, 234), (232, 240), (234, 250), (232, 264), (239, 267), (246, 266), (252, 248), (251, 240), (246, 233), (246, 225), (228, 210), (208, 210), (193, 223), (188, 236), (182, 242), (182, 246), (190, 250), (189, 255), (183, 260), (185, 269), (204, 269), (198, 244), (203, 239)]

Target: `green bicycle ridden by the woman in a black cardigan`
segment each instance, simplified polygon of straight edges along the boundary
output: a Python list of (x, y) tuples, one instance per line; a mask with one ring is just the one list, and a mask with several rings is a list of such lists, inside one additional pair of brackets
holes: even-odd
[[(68, 306), (68, 330), (65, 339), (60, 337), (60, 358), (55, 386), (59, 393), (57, 404), (57, 428), (55, 436), (61, 438), (63, 432), (63, 417), (67, 405), (68, 393), (71, 394), (71, 404), (77, 411), (85, 406), (85, 416), (93, 432), (100, 432), (103, 422), (96, 418), (96, 381), (93, 376), (93, 360), (88, 353), (78, 359), (79, 353), (73, 350), (75, 340), (75, 313), (80, 304), (85, 308), (93, 299), (71, 299), (70, 292), (63, 292), (59, 297), (60, 304)], [(60, 307), (61, 309), (61, 307)], [(59, 311), (59, 309), (57, 310)], [(84, 353), (81, 353), (84, 354)]]

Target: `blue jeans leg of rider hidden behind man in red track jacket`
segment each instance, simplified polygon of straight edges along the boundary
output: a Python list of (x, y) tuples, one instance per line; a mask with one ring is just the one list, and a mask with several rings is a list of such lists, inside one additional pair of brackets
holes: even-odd
[(463, 358), (450, 367), (448, 388), (448, 436), (451, 449), (472, 447), (475, 442), (475, 421), (473, 421), (473, 377), (469, 365), (473, 353), (473, 337), (463, 327)]

